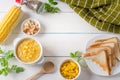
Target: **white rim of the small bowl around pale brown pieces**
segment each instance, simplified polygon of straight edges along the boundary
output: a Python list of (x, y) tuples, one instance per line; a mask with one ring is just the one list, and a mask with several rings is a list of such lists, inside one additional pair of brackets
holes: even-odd
[[(29, 35), (29, 34), (27, 34), (27, 33), (25, 33), (25, 32), (23, 31), (24, 24), (25, 24), (28, 20), (33, 20), (35, 23), (38, 24), (39, 30), (38, 30), (35, 34), (33, 34), (33, 35)], [(29, 36), (35, 36), (35, 35), (37, 35), (37, 34), (40, 32), (40, 29), (41, 29), (40, 22), (39, 22), (38, 19), (35, 19), (35, 18), (25, 19), (25, 20), (23, 21), (22, 25), (21, 25), (21, 31), (22, 31), (24, 34), (29, 35)]]

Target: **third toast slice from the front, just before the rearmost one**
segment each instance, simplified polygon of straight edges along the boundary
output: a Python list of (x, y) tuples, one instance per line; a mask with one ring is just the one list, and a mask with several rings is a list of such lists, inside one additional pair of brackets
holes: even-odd
[(111, 54), (111, 61), (112, 61), (112, 66), (115, 66), (117, 60), (116, 60), (116, 51), (115, 51), (115, 43), (114, 42), (96, 42), (90, 47), (95, 47), (95, 46), (109, 46), (112, 48), (112, 54)]

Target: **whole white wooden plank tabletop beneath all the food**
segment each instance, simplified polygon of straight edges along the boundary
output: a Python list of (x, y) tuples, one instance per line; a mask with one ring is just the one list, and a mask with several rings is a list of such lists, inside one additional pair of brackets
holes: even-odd
[[(14, 0), (0, 1), (0, 19), (2, 19), (8, 9), (13, 5), (15, 5)], [(42, 25), (41, 32), (35, 37), (42, 43), (44, 48), (45, 61), (53, 61), (56, 65), (56, 70), (53, 74), (43, 75), (38, 80), (64, 80), (59, 75), (58, 68), (64, 59), (69, 58), (70, 52), (74, 52), (76, 50), (84, 52), (86, 43), (91, 38), (101, 34), (111, 34), (98, 31), (96, 28), (92, 27), (76, 13), (74, 13), (73, 10), (70, 9), (66, 4), (59, 2), (58, 6), (61, 9), (60, 13), (42, 15), (30, 11), (26, 7), (22, 7), (25, 15), (24, 19), (35, 17), (40, 20)], [(14, 39), (25, 36), (20, 31), (20, 24), (12, 32), (9, 38), (7, 38), (5, 43), (0, 45), (3, 49), (14, 49)], [(12, 60), (11, 64), (12, 63), (23, 66), (25, 71), (20, 74), (10, 73), (7, 77), (0, 76), (0, 80), (25, 80), (27, 77), (40, 70), (40, 65), (25, 65), (19, 63), (16, 59)], [(80, 78), (78, 80), (119, 79), (120, 74), (111, 77), (101, 77), (93, 74), (89, 69), (82, 69)]]

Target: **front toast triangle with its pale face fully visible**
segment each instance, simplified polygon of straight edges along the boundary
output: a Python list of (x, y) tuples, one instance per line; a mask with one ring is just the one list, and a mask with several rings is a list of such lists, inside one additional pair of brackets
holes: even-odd
[(98, 64), (103, 71), (110, 75), (111, 70), (108, 65), (108, 56), (105, 49), (85, 53), (82, 57), (91, 59), (93, 62)]

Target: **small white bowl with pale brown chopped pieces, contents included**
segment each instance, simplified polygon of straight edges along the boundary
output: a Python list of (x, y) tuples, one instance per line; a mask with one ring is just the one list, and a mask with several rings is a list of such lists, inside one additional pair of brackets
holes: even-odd
[(21, 25), (22, 32), (30, 36), (37, 35), (40, 28), (40, 22), (35, 18), (28, 18)]

